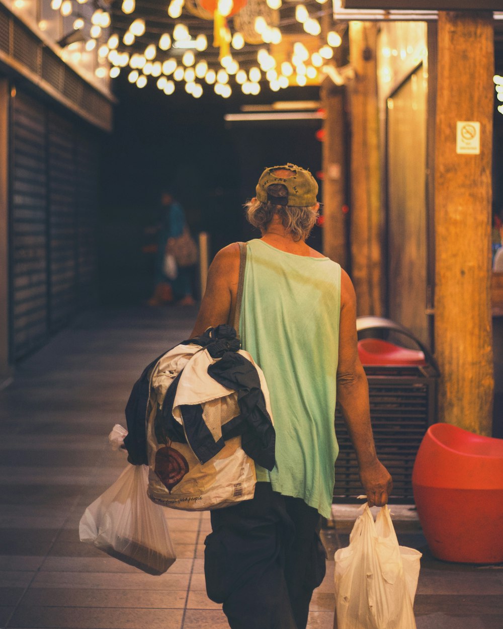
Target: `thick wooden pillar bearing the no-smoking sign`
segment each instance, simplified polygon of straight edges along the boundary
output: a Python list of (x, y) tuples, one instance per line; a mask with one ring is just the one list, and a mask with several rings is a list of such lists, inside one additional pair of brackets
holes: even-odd
[[(492, 14), (440, 11), (435, 131), (435, 353), (438, 420), (490, 435)], [(480, 123), (480, 153), (467, 150)], [(458, 130), (459, 127), (459, 130)], [(458, 146), (456, 138), (462, 145)], [(476, 150), (472, 148), (472, 150)]]

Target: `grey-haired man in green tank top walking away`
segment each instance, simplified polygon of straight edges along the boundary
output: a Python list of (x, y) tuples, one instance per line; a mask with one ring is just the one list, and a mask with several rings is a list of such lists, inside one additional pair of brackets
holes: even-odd
[[(358, 358), (356, 297), (340, 265), (306, 244), (318, 184), (294, 164), (266, 169), (246, 205), (261, 237), (246, 243), (239, 334), (263, 370), (276, 432), (275, 467), (257, 465), (255, 496), (211, 511), (204, 572), (232, 629), (306, 629), (325, 574), (321, 516), (331, 517), (338, 399), (368, 503), (392, 479), (377, 458), (367, 377)], [(240, 245), (215, 256), (192, 337), (234, 321)]]

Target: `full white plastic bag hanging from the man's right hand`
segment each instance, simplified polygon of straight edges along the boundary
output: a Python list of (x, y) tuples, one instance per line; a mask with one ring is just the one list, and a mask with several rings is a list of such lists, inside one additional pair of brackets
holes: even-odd
[(418, 550), (399, 546), (387, 506), (374, 522), (366, 504), (350, 545), (334, 555), (338, 629), (416, 629), (420, 559)]

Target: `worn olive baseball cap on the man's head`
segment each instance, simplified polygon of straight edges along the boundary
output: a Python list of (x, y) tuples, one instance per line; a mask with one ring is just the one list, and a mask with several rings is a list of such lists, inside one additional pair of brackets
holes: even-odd
[[(277, 177), (275, 170), (290, 170), (291, 177)], [(283, 184), (288, 189), (287, 197), (276, 197), (268, 194), (267, 189), (272, 184)], [(296, 166), (295, 164), (285, 164), (284, 166), (273, 166), (266, 168), (257, 184), (257, 199), (262, 203), (270, 201), (276, 205), (291, 205), (299, 208), (309, 208), (316, 205), (316, 195), (318, 194), (318, 184), (309, 170)]]

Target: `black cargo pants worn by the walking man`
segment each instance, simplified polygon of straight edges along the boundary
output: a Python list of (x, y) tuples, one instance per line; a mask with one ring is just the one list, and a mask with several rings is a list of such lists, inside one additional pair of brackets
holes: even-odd
[(325, 575), (318, 511), (259, 482), (252, 500), (211, 512), (206, 591), (231, 629), (306, 629)]

